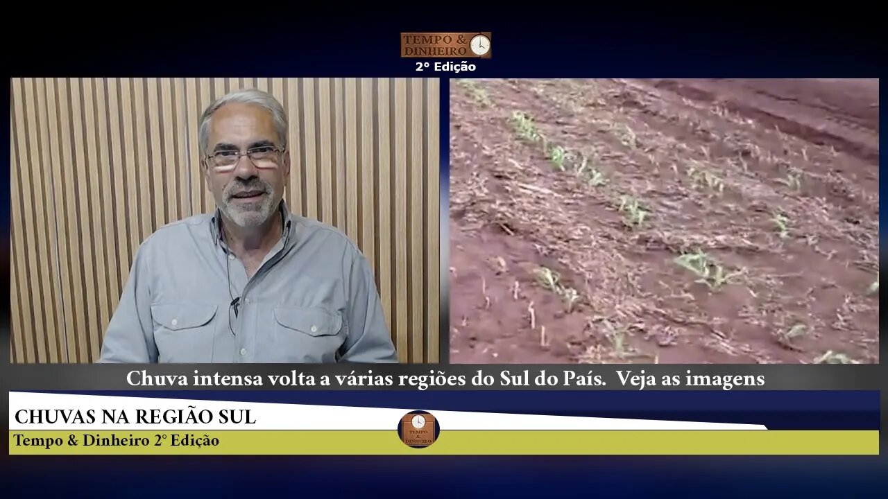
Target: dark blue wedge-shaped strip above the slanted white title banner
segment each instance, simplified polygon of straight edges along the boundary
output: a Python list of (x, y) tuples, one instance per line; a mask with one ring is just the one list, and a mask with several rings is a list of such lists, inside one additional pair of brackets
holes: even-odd
[[(67, 392), (75, 393), (75, 392)], [(878, 430), (879, 392), (394, 392), (140, 391), (93, 395), (238, 400), (322, 406), (403, 408), (765, 424), (771, 430)], [(184, 406), (183, 406), (184, 407)], [(444, 430), (447, 430), (446, 421)]]

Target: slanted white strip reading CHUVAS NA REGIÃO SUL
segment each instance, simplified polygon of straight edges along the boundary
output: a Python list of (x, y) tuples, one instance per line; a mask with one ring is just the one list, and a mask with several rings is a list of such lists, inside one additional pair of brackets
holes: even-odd
[(10, 392), (10, 430), (395, 430), (425, 410), (441, 430), (766, 430), (761, 424), (356, 408)]

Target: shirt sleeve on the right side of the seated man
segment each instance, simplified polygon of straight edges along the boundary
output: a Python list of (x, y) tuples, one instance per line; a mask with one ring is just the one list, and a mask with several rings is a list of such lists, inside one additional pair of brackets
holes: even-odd
[[(346, 267), (348, 268), (348, 267)], [(345, 320), (348, 337), (341, 362), (397, 362), (392, 336), (385, 325), (377, 283), (367, 258), (355, 250), (347, 274), (348, 309)]]

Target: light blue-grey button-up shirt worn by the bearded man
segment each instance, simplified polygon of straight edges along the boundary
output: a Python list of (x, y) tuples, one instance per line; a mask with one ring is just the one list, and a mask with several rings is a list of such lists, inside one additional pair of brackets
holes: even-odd
[(285, 202), (281, 218), (281, 240), (251, 278), (220, 237), (218, 210), (151, 234), (99, 362), (397, 362), (361, 251)]

